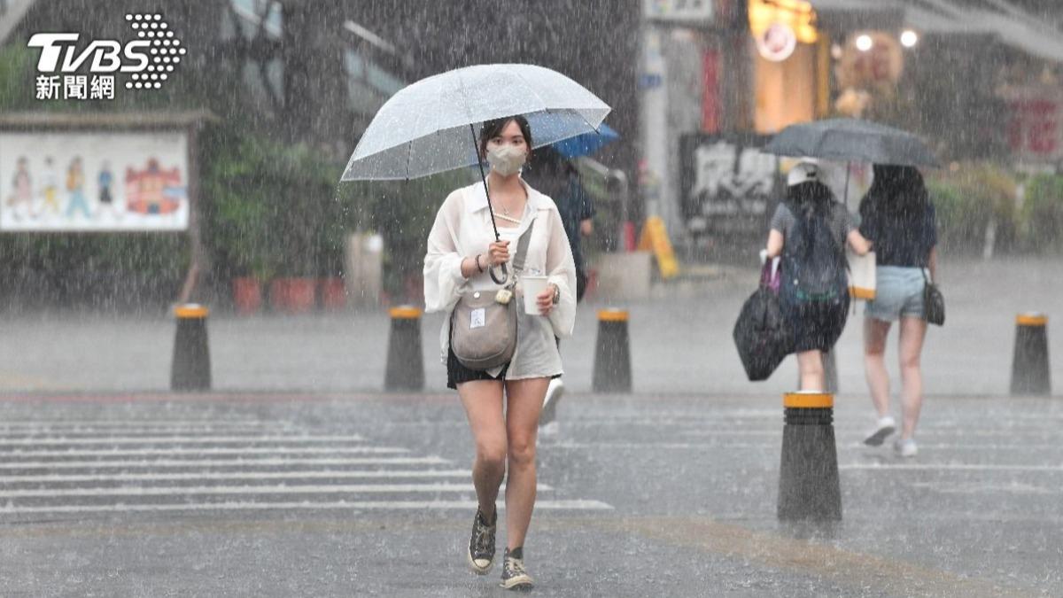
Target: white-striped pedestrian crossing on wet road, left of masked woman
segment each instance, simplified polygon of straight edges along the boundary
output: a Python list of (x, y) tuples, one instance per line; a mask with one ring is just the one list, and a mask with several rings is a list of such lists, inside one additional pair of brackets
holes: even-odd
[[(474, 510), (471, 478), (396, 444), (256, 419), (0, 422), (0, 517)], [(612, 509), (563, 495), (540, 483), (536, 509)]]

